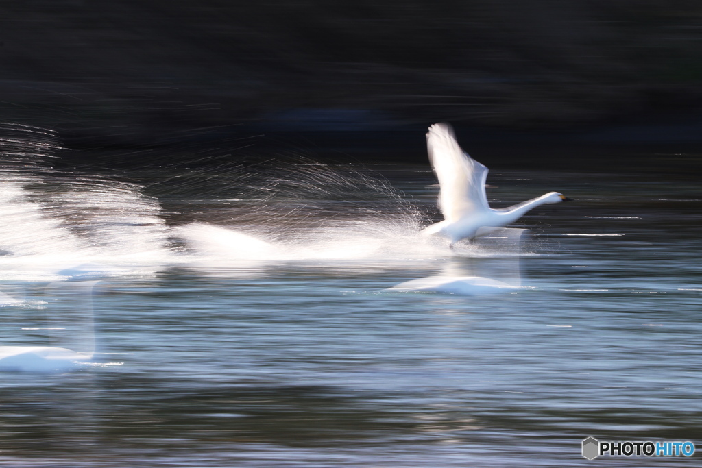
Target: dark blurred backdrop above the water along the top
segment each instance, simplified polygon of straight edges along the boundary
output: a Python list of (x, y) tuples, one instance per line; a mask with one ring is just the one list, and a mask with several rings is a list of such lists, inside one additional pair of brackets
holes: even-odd
[(407, 162), (436, 121), (488, 143), (700, 144), (702, 9), (687, 0), (36, 0), (1, 13), (2, 119), (72, 149), (235, 152), (308, 132)]

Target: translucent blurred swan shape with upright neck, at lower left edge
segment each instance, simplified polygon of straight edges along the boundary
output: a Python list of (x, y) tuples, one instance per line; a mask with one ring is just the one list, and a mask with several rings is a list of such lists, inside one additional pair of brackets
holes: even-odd
[[(97, 281), (51, 283), (54, 297), (48, 308), (50, 344), (60, 346), (0, 346), (0, 371), (55, 372), (86, 365), (95, 353), (91, 295)], [(41, 330), (42, 328), (22, 328)], [(71, 349), (69, 349), (70, 347)]]

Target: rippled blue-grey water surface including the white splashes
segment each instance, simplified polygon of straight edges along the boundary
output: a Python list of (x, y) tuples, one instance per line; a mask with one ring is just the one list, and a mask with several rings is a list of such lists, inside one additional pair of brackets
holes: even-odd
[[(3, 466), (564, 467), (592, 463), (580, 454), (586, 436), (699, 443), (693, 182), (494, 171), (494, 206), (552, 189), (576, 201), (524, 218), (521, 255), (451, 253), (416, 235), (435, 200), (428, 167), (378, 169), (388, 180), (322, 166), (315, 183), (328, 192), (279, 180), (274, 199), (203, 196), (197, 185), (159, 199), (162, 187), (93, 179), (56, 189), (6, 173), (7, 206), (19, 208), (2, 227), (15, 243), (3, 246), (0, 287), (22, 303), (0, 308), (4, 343), (46, 344), (41, 330), (18, 330), (67, 319), (48, 281), (102, 281), (92, 305), (72, 297), (95, 316), (93, 365), (2, 374)], [(356, 188), (343, 192), (348, 180)], [(105, 195), (97, 218), (56, 196), (95, 187)], [(166, 226), (189, 222), (199, 224), (185, 234)], [(21, 239), (28, 226), (51, 235)], [(223, 227), (254, 241), (232, 247), (227, 232), (208, 231)], [(116, 239), (138, 239), (133, 258)], [(46, 250), (54, 241), (62, 252)], [(388, 290), (447, 271), (517, 277), (523, 288)]]

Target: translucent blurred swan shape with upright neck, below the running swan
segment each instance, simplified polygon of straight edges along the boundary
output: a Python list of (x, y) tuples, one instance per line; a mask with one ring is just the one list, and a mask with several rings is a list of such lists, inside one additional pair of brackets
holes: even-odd
[(519, 249), (524, 231), (525, 229), (498, 228), (479, 237), (477, 246), (490, 250), (498, 248), (503, 257), (453, 258), (441, 274), (405, 281), (390, 290), (459, 295), (515, 292), (522, 288)]

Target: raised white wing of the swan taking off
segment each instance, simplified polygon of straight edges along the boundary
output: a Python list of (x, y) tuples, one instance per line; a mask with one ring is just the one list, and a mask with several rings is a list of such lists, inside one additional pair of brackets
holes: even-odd
[(441, 187), (439, 208), (444, 219), (451, 222), (489, 207), (485, 194), (488, 168), (463, 152), (448, 123), (429, 127), (427, 149)]

